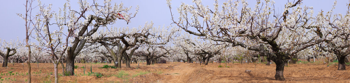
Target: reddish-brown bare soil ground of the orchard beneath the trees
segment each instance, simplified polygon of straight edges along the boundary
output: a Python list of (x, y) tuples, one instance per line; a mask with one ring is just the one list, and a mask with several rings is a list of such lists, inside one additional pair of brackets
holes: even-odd
[[(8, 63), (8, 68), (1, 67), (0, 74), (2, 83), (23, 83), (27, 82), (27, 65), (22, 63)], [(75, 69), (76, 76), (62, 76), (62, 68), (59, 65), (59, 82), (61, 83), (349, 83), (350, 67), (347, 70), (337, 70), (337, 63), (327, 67), (323, 63), (298, 63), (289, 64), (285, 67), (284, 77), (286, 81), (275, 81), (275, 64), (266, 66), (259, 63), (228, 63), (225, 67), (218, 67), (219, 63), (209, 63), (209, 65), (199, 65), (198, 63), (169, 62), (166, 64), (155, 64), (146, 66), (140, 63), (140, 68), (135, 69), (137, 64), (132, 64), (132, 68), (121, 69), (100, 69), (104, 63), (76, 63), (79, 66)], [(2, 65), (0, 63), (0, 65)], [(103, 76), (84, 75), (90, 72), (101, 73)], [(113, 65), (113, 64), (109, 64)], [(221, 63), (225, 66), (225, 63)], [(54, 69), (50, 63), (31, 63), (32, 83), (54, 82)], [(125, 64), (122, 64), (125, 67)], [(252, 70), (245, 73), (245, 70)], [(12, 71), (12, 73), (10, 73)]]

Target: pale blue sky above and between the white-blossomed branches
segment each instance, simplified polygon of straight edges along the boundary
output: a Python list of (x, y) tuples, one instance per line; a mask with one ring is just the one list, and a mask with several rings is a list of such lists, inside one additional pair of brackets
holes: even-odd
[[(78, 7), (78, 0), (71, 0), (72, 7)], [(92, 1), (92, 0), (87, 0)], [(103, 1), (103, 0), (98, 0)], [(223, 3), (226, 0), (219, 0), (219, 3)], [(235, 0), (234, 0), (235, 1)], [(255, 5), (256, 0), (247, 0), (250, 7)], [(289, 0), (293, 1), (293, 0)], [(17, 16), (17, 13), (25, 14), (25, 6), (23, 4), (26, 3), (25, 0), (2, 0), (3, 4), (0, 5), (0, 39), (9, 41), (10, 39), (20, 40), (25, 39), (25, 21)], [(42, 3), (45, 5), (52, 4), (52, 10), (58, 12), (58, 8), (63, 7), (63, 4), (66, 0), (42, 0)], [(167, 7), (166, 0), (112, 0), (112, 2), (120, 3), (123, 2), (125, 7), (133, 6), (130, 12), (134, 13), (135, 7), (138, 5), (140, 7), (138, 14), (136, 17), (131, 19), (131, 23), (126, 24), (123, 21), (117, 21), (113, 27), (138, 27), (140, 25), (144, 25), (147, 21), (153, 21), (154, 26), (165, 25), (168, 26), (172, 23), (171, 15), (169, 8)], [(180, 6), (180, 4), (184, 2), (189, 5), (193, 5), (192, 0), (172, 0), (172, 11), (174, 14), (174, 18), (178, 17), (176, 12), (176, 8)], [(203, 0), (204, 5), (208, 5), (210, 7), (213, 6), (214, 0)], [(288, 0), (275, 0), (275, 9), (276, 11), (282, 11), (285, 3)], [(321, 9), (324, 11), (328, 11), (332, 8), (334, 0), (303, 0), (303, 5), (312, 6), (314, 8), (315, 14), (319, 12)], [(345, 14), (347, 6), (349, 3), (348, 0), (338, 0), (338, 4), (334, 13), (342, 13)], [(37, 1), (34, 2), (37, 5)], [(90, 2), (92, 3), (92, 2)], [(35, 8), (34, 10), (38, 10)], [(176, 20), (176, 19), (175, 19)], [(173, 25), (174, 26), (174, 25)], [(34, 34), (33, 34), (34, 35)], [(31, 38), (32, 39), (32, 38)]]

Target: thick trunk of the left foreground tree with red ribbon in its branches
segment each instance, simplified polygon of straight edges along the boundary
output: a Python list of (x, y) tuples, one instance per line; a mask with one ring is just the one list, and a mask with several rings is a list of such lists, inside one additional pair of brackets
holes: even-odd
[(75, 56), (73, 55), (74, 53), (71, 52), (70, 47), (67, 50), (67, 62), (66, 62), (66, 73), (67, 75), (74, 75), (74, 59)]

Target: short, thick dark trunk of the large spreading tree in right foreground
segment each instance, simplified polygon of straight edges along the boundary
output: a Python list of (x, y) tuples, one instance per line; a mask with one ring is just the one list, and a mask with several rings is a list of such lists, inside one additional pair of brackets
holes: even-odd
[(275, 63), (276, 63), (275, 79), (278, 81), (285, 81), (286, 79), (283, 77), (283, 70), (284, 70), (285, 61), (277, 60), (277, 61), (275, 61)]

